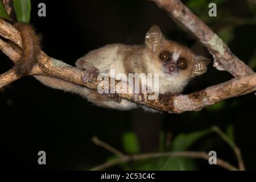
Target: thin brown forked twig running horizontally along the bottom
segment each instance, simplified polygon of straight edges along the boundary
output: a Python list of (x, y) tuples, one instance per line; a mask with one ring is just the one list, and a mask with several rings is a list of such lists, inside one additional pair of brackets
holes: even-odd
[[(117, 149), (115, 149), (112, 146), (109, 146), (109, 144), (106, 144), (105, 142), (102, 142), (100, 139), (97, 139), (97, 143), (101, 143), (98, 144), (99, 146), (101, 146), (102, 148), (105, 148), (106, 150), (112, 152), (112, 151), (118, 151)], [(95, 139), (94, 139), (95, 140)], [(103, 143), (103, 145), (102, 145)], [(107, 146), (107, 148), (106, 148)], [(112, 148), (112, 150), (109, 150), (109, 147)], [(114, 150), (113, 150), (114, 148)], [(120, 152), (120, 151), (118, 151)], [(112, 152), (113, 154), (115, 154), (114, 152)], [(120, 152), (121, 154), (123, 154), (122, 152)], [(167, 156), (180, 156), (180, 157), (184, 157), (184, 158), (197, 158), (197, 159), (205, 159), (205, 160), (209, 160), (209, 155), (207, 154), (207, 152), (203, 152), (203, 151), (184, 151), (184, 152), (156, 152), (156, 153), (148, 153), (148, 154), (138, 154), (138, 155), (121, 155), (118, 156), (118, 159), (112, 160), (110, 162), (106, 162), (104, 164), (101, 164), (100, 166), (94, 167), (90, 170), (92, 171), (96, 171), (96, 170), (103, 170), (109, 167), (113, 167), (113, 166), (117, 166), (118, 164), (121, 164), (123, 162), (130, 162), (130, 161), (135, 161), (135, 160), (143, 160), (143, 159), (152, 159), (152, 158), (160, 158), (160, 157), (167, 157)], [(228, 162), (226, 162), (225, 160), (219, 159), (217, 158), (217, 165), (228, 169), (230, 171), (238, 171), (238, 169), (234, 166), (232, 166), (232, 164), (229, 164)]]

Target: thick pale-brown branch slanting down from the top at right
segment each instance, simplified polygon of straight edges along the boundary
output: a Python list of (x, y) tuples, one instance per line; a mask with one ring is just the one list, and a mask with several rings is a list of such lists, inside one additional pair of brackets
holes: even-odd
[[(234, 77), (250, 75), (253, 71), (235, 56), (214, 32), (179, 0), (152, 0), (168, 11), (171, 18), (181, 23), (208, 48), (214, 58), (213, 66), (228, 71)], [(207, 7), (205, 7), (207, 8)]]

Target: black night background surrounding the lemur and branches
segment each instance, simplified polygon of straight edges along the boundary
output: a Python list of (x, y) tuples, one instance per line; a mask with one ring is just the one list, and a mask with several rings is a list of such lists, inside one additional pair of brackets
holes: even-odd
[[(37, 15), (40, 2), (46, 3), (46, 17)], [(243, 0), (183, 2), (255, 71), (256, 9), (253, 3)], [(216, 18), (208, 16), (209, 2), (217, 4)], [(31, 23), (43, 36), (43, 51), (71, 65), (88, 51), (105, 44), (144, 44), (144, 35), (152, 24), (158, 24), (167, 38), (210, 57), (166, 11), (146, 0), (33, 0)], [(2, 52), (0, 59), (3, 73), (12, 63)], [(208, 72), (191, 81), (184, 92), (191, 93), (230, 78), (229, 73), (217, 71), (210, 65)], [(75, 94), (48, 88), (33, 77), (24, 77), (0, 89), (1, 167), (87, 170), (113, 158), (108, 151), (92, 143), (93, 136), (125, 153), (141, 154), (171, 151), (180, 134), (188, 136), (215, 125), (240, 147), (246, 169), (256, 169), (255, 101), (254, 94), (247, 94), (198, 112), (182, 114), (151, 114), (140, 109), (116, 111), (94, 106)], [(45, 166), (38, 165), (40, 150), (47, 154)], [(214, 133), (203, 135), (184, 150), (214, 150), (218, 157), (237, 166), (234, 152)], [(205, 160), (185, 162), (189, 164), (183, 169), (222, 170), (209, 166)], [(155, 168), (156, 163), (159, 168)], [(168, 158), (151, 159), (113, 169), (180, 169), (172, 164), (176, 163)]]

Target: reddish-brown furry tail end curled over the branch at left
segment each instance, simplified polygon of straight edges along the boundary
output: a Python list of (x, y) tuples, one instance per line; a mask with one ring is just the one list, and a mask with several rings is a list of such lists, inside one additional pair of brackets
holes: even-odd
[(22, 37), (22, 55), (15, 65), (18, 75), (28, 75), (36, 64), (37, 55), (40, 52), (40, 40), (36, 36), (34, 28), (28, 23), (15, 23), (14, 27)]

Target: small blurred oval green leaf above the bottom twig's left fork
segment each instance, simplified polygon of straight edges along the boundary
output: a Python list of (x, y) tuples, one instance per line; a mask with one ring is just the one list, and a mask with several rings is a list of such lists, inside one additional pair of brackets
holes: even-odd
[(122, 136), (123, 150), (127, 154), (139, 153), (139, 142), (137, 136), (133, 132), (127, 132)]

